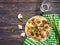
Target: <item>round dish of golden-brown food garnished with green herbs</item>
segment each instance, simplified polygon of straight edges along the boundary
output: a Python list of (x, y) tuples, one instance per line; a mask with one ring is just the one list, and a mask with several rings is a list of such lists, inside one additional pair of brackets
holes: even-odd
[(34, 16), (25, 25), (27, 36), (35, 41), (43, 41), (51, 34), (50, 22), (42, 16)]

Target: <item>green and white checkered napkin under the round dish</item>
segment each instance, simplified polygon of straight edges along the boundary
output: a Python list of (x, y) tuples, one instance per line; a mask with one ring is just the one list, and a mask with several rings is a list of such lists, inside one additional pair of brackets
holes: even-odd
[[(51, 16), (54, 15), (55, 16), (56, 23), (57, 23), (57, 26), (59, 28), (59, 16), (58, 16), (58, 14), (44, 14), (43, 16), (48, 19), (49, 15), (51, 15)], [(50, 20), (53, 21), (52, 19), (50, 19)], [(51, 33), (50, 37), (46, 41), (33, 42), (29, 38), (26, 38), (23, 45), (55, 45), (55, 44), (57, 45), (57, 39), (56, 39), (55, 32), (54, 32), (54, 30), (52, 28), (52, 33)]]

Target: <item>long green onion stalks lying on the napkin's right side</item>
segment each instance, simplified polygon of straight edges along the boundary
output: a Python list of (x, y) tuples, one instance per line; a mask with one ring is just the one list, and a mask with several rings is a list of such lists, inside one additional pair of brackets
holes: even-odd
[(52, 27), (53, 27), (53, 29), (55, 31), (55, 35), (57, 37), (58, 45), (60, 45), (60, 32), (59, 32), (59, 29), (58, 29), (57, 24), (56, 24), (56, 19), (55, 19), (54, 15), (52, 17), (49, 16), (48, 19), (49, 20), (53, 19), (53, 22), (51, 22), (51, 20), (50, 20), (50, 22), (51, 22), (51, 25), (52, 25)]

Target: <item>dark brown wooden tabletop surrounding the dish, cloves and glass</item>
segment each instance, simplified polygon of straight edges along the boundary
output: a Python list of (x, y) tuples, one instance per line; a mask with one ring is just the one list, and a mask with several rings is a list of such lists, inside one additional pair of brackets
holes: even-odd
[[(54, 13), (60, 14), (60, 0), (50, 0), (53, 2)], [(23, 18), (23, 23), (18, 21), (18, 14), (23, 17), (26, 12), (29, 13), (29, 18), (40, 15), (42, 0), (0, 0), (0, 44), (1, 45), (23, 45), (24, 38), (17, 38), (22, 31), (25, 31), (25, 24), (28, 19)], [(51, 13), (51, 12), (50, 12)], [(18, 29), (18, 24), (23, 26), (23, 29)], [(14, 28), (16, 32), (10, 32)], [(15, 37), (12, 37), (15, 36)], [(22, 40), (22, 41), (21, 41)]]

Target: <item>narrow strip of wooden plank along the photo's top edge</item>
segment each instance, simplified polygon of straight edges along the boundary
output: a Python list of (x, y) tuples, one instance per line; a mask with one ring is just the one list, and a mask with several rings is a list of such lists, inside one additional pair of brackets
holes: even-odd
[[(45, 1), (45, 0), (44, 0)], [(60, 0), (50, 0), (51, 2), (60, 2)], [(43, 2), (43, 0), (0, 0), (0, 2)]]

